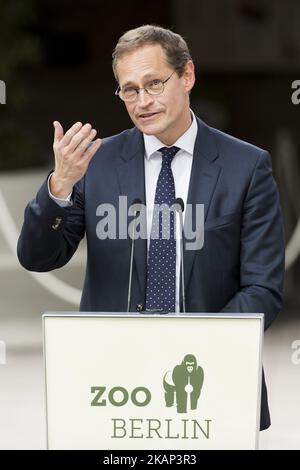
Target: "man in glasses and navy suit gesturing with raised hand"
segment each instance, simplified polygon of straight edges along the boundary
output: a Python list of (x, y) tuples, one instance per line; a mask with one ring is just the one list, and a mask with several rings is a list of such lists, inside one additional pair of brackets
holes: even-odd
[[(131, 309), (180, 311), (174, 220), (164, 246), (160, 236), (152, 240), (151, 226), (153, 203), (170, 205), (181, 197), (193, 207), (203, 204), (205, 213), (203, 248), (184, 252), (187, 311), (260, 312), (268, 328), (281, 308), (284, 272), (269, 154), (193, 114), (194, 65), (179, 35), (143, 26), (120, 38), (113, 57), (116, 93), (135, 127), (93, 140), (90, 124), (76, 123), (64, 134), (54, 123), (55, 168), (26, 208), (18, 243), (21, 264), (34, 271), (59, 268), (86, 234), (80, 308), (124, 311), (131, 241), (99, 237), (99, 207), (111, 204), (118, 211), (120, 196), (127, 196), (128, 206), (138, 198), (147, 206), (147, 236), (136, 240)], [(117, 232), (118, 223), (117, 218)], [(269, 425), (263, 380), (261, 429)]]

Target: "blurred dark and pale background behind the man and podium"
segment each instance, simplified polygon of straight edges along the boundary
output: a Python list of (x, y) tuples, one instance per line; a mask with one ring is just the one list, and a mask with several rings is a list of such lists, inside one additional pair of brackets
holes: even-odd
[(146, 23), (187, 40), (196, 114), (271, 152), (287, 274), (284, 309), (265, 338), (273, 426), (261, 447), (300, 448), (299, 0), (0, 0), (0, 448), (45, 446), (41, 314), (78, 309), (84, 275), (84, 243), (51, 275), (32, 276), (15, 257), (25, 204), (53, 165), (52, 121), (65, 130), (90, 122), (101, 137), (131, 127), (111, 54), (123, 32)]

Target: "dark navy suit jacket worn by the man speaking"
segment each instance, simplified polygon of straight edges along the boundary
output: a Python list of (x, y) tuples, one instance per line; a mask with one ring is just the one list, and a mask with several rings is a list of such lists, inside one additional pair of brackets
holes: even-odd
[[(186, 310), (264, 313), (268, 328), (281, 308), (284, 273), (283, 227), (270, 156), (197, 122), (187, 202), (204, 204), (205, 238), (201, 250), (184, 254)], [(130, 239), (100, 240), (96, 234), (97, 207), (110, 203), (118, 208), (120, 195), (127, 196), (128, 206), (135, 198), (145, 203), (144, 141), (136, 128), (103, 140), (74, 188), (72, 207), (59, 207), (45, 181), (25, 210), (18, 257), (28, 270), (65, 265), (86, 234), (82, 311), (126, 310)], [(132, 310), (145, 300), (146, 263), (147, 240), (138, 239)], [(269, 425), (263, 378), (261, 429)]]

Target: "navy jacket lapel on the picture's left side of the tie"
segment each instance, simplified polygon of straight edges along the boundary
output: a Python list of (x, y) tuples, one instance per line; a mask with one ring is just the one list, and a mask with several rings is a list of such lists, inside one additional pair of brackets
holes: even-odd
[[(127, 196), (128, 207), (134, 199), (140, 199), (146, 205), (144, 139), (142, 133), (134, 128), (129, 131), (116, 168), (120, 194)], [(143, 223), (146, 224), (146, 214)], [(146, 225), (145, 225), (146, 227)], [(131, 245), (131, 238), (129, 238)], [(147, 239), (138, 238), (134, 247), (134, 264), (143, 298), (146, 285)]]

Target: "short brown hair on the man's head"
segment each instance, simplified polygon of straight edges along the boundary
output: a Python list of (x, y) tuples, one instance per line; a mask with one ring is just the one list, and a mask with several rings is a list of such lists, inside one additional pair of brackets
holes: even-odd
[(115, 47), (112, 67), (117, 80), (118, 59), (148, 44), (160, 44), (165, 51), (168, 64), (176, 70), (179, 77), (183, 75), (187, 61), (191, 60), (189, 48), (183, 37), (161, 26), (144, 25), (124, 33)]

